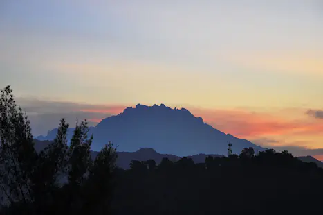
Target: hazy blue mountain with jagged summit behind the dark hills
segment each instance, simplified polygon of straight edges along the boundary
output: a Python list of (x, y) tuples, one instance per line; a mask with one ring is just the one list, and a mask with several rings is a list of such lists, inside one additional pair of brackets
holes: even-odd
[[(73, 128), (69, 130), (71, 138)], [(57, 128), (41, 139), (53, 139)], [(253, 147), (255, 152), (264, 150), (246, 139), (225, 134), (194, 117), (185, 108), (172, 109), (165, 105), (136, 105), (127, 107), (117, 116), (103, 119), (91, 128), (92, 150), (100, 150), (108, 141), (118, 146), (118, 151), (133, 152), (140, 148), (154, 148), (160, 153), (177, 156), (204, 154), (226, 155), (228, 143), (233, 153)], [(37, 138), (38, 139), (38, 138)]]

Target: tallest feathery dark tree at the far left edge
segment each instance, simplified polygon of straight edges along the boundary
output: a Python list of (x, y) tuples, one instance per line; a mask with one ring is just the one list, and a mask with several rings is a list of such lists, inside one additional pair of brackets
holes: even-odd
[(38, 156), (30, 121), (15, 103), (10, 86), (1, 90), (0, 143), (0, 188), (5, 196), (3, 205), (20, 203), (27, 207), (34, 202), (31, 178)]

